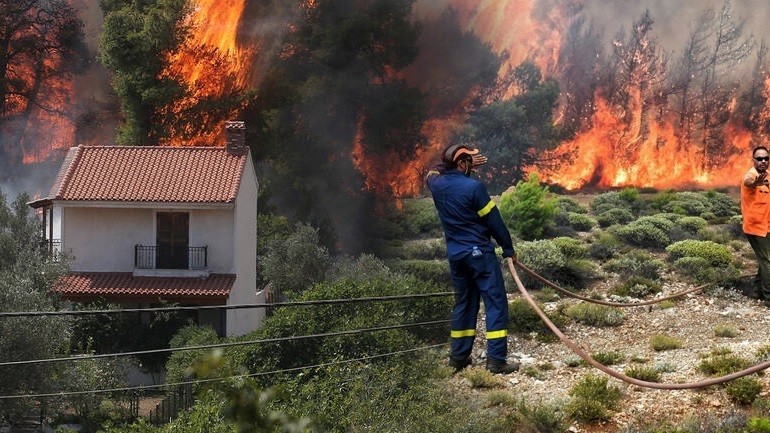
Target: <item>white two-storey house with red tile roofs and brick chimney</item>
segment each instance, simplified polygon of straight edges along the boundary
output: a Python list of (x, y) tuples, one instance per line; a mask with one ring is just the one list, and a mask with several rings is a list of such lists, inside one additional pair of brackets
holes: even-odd
[[(124, 308), (264, 302), (256, 292), (257, 177), (243, 122), (226, 147), (69, 149), (43, 215), (51, 250), (71, 256), (56, 288)], [(256, 329), (264, 309), (194, 310), (220, 335)]]

